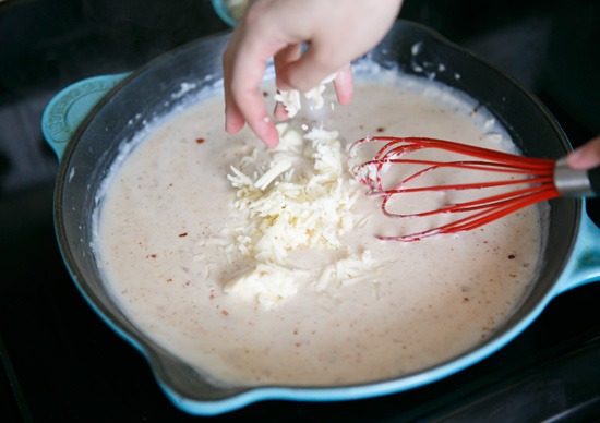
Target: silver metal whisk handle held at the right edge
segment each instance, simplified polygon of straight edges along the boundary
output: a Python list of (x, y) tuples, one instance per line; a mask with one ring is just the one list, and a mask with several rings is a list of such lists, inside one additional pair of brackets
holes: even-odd
[(600, 167), (590, 170), (572, 169), (566, 165), (565, 158), (556, 160), (554, 186), (563, 196), (599, 196)]

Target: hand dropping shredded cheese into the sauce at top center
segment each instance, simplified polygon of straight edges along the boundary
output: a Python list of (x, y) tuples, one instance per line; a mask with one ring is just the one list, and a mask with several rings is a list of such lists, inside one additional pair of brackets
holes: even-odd
[[(403, 0), (256, 0), (238, 22), (223, 56), (225, 129), (244, 123), (268, 146), (279, 135), (260, 84), (273, 57), (279, 89), (305, 93), (336, 73), (337, 99), (352, 99), (350, 62), (373, 48), (394, 23)], [(302, 45), (308, 48), (301, 55)], [(275, 118), (286, 119), (281, 107)]]

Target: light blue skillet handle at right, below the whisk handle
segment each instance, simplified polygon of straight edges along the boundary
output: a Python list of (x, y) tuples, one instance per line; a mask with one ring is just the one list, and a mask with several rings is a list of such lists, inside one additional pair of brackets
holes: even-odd
[(584, 213), (577, 242), (555, 294), (593, 281), (600, 281), (600, 229)]

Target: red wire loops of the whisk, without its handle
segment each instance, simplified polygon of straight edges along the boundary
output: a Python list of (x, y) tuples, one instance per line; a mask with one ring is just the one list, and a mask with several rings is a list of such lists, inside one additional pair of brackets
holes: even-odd
[[(385, 216), (392, 218), (427, 217), (435, 214), (458, 214), (471, 213), (471, 215), (460, 218), (447, 225), (440, 226), (418, 233), (397, 237), (377, 237), (381, 240), (396, 241), (418, 241), (424, 238), (441, 233), (456, 233), (480, 228), (506, 215), (519, 210), (529, 205), (541, 201), (551, 200), (561, 194), (553, 184), (553, 171), (555, 160), (529, 158), (512, 155), (508, 153), (495, 152), (482, 147), (464, 145), (444, 140), (408, 137), (397, 138), (391, 136), (368, 137), (357, 141), (349, 149), (349, 156), (356, 155), (356, 148), (362, 144), (371, 142), (384, 142), (384, 146), (377, 150), (372, 160), (368, 160), (356, 168), (355, 172), (360, 181), (367, 185), (370, 191), (368, 195), (381, 196), (381, 208)], [(425, 159), (406, 159), (401, 158), (408, 154), (416, 153), (423, 148), (436, 148), (446, 152), (463, 154), (468, 157), (475, 157), (479, 160), (455, 160), (439, 161)], [(423, 169), (408, 176), (393, 189), (383, 188), (382, 173), (393, 165), (419, 165), (425, 166)], [(374, 172), (370, 169), (374, 168)], [(454, 168), (461, 170), (476, 170), (497, 173), (518, 174), (517, 179), (475, 182), (475, 183), (455, 183), (439, 186), (417, 186), (405, 188), (409, 182), (422, 177), (423, 174), (442, 168)], [(374, 174), (373, 174), (374, 173)], [(411, 213), (397, 214), (388, 210), (388, 203), (399, 194), (427, 192), (427, 191), (459, 191), (472, 189), (488, 189), (497, 186), (511, 186), (527, 184), (528, 186), (512, 192), (492, 195), (485, 198), (468, 201), (457, 204), (447, 204), (441, 208)]]

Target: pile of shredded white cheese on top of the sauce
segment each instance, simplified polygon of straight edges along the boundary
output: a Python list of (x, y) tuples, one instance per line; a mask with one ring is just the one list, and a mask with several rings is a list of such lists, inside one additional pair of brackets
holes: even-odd
[[(340, 286), (360, 281), (374, 266), (369, 252), (349, 251), (341, 239), (356, 225), (351, 207), (362, 193), (345, 167), (338, 133), (313, 128), (302, 136), (288, 123), (277, 130), (280, 142), (268, 153), (268, 166), (252, 176), (231, 167), (228, 176), (237, 189), (235, 206), (249, 220), (245, 228), (235, 229), (233, 245), (255, 265), (225, 291), (267, 307), (295, 295), (298, 280), (310, 277), (304, 269), (290, 268), (286, 257), (291, 251), (329, 251), (341, 257), (319, 269), (316, 290), (332, 280)], [(299, 159), (310, 164), (310, 171), (297, 171)]]

